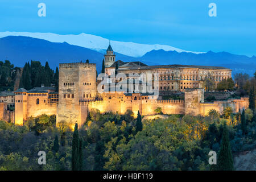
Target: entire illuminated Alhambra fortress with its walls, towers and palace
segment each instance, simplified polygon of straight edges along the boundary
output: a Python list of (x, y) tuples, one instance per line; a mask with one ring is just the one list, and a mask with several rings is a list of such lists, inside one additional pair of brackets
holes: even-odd
[[(211, 75), (217, 85), (221, 80), (232, 77), (232, 70), (224, 67), (196, 66), (196, 65), (146, 65), (139, 61), (115, 61), (115, 54), (109, 45), (104, 56), (105, 76), (108, 84), (117, 85), (119, 82), (137, 79), (131, 73), (152, 75), (153, 89), (158, 90), (159, 96), (152, 93), (125, 92), (115, 90), (109, 92), (104, 88), (102, 80), (97, 79), (96, 64), (93, 63), (65, 63), (59, 64), (59, 92), (55, 87), (41, 86), (26, 90), (19, 88), (15, 92), (2, 92), (0, 95), (0, 119), (23, 125), (29, 117), (41, 114), (56, 115), (57, 123), (76, 122), (81, 126), (92, 109), (101, 113), (108, 111), (124, 114), (127, 110), (138, 111), (142, 115), (154, 115), (155, 109), (160, 107), (164, 114), (192, 114), (207, 115), (210, 109), (223, 114), (225, 107), (232, 107), (236, 113), (249, 106), (249, 98), (204, 101), (203, 81)], [(112, 77), (126, 76), (125, 79)], [(155, 86), (156, 80), (158, 85)], [(139, 88), (145, 80), (139, 80)], [(133, 82), (134, 84), (134, 82)], [(135, 88), (135, 84), (133, 85)], [(99, 92), (101, 91), (101, 92)], [(184, 99), (166, 100), (172, 94), (183, 94)], [(214, 94), (214, 92), (212, 93)], [(217, 98), (217, 97), (216, 97)], [(10, 111), (9, 107), (15, 107)]]

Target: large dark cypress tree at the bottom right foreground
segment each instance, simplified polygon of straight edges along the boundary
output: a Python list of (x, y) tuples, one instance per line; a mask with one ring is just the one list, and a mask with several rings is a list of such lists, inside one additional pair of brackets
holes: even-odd
[(221, 147), (218, 152), (217, 159), (217, 169), (218, 171), (233, 171), (233, 156), (229, 143), (229, 133), (228, 128), (226, 127), (226, 123), (224, 123), (224, 129), (222, 133), (221, 139)]

